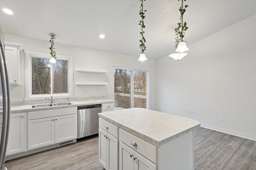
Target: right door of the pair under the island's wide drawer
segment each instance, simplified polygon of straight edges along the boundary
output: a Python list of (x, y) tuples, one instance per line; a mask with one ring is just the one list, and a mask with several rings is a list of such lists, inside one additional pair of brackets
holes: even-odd
[(134, 152), (134, 170), (156, 170), (156, 164), (142, 156), (141, 154)]

